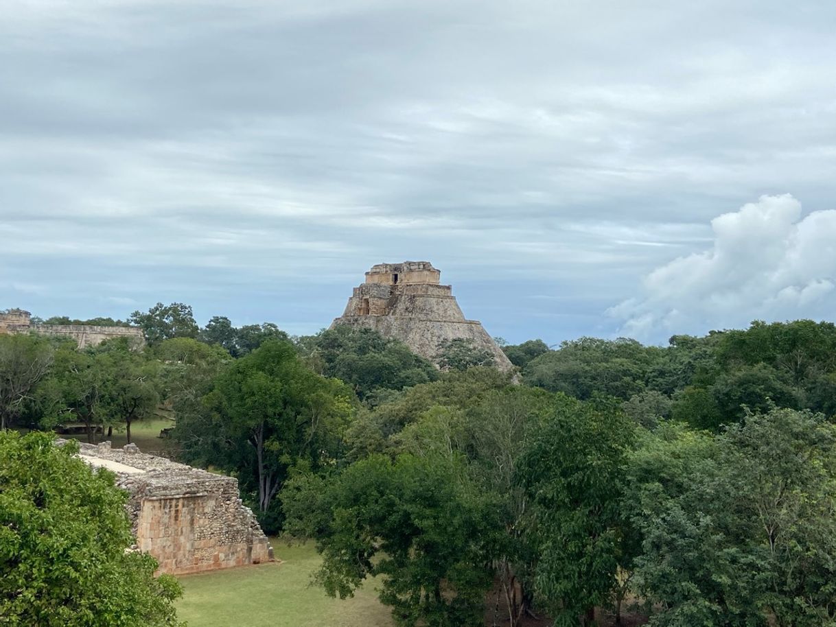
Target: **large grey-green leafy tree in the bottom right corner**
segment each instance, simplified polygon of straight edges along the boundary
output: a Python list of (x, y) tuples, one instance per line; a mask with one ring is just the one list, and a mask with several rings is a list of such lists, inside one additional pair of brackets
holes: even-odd
[(713, 438), (677, 426), (647, 438), (625, 504), (651, 624), (836, 624), (834, 453), (836, 426), (789, 409)]

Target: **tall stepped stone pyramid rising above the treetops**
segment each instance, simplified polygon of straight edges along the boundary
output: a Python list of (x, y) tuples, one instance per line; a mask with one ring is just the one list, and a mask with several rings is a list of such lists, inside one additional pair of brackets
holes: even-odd
[(331, 327), (375, 329), (431, 361), (436, 361), (441, 343), (469, 339), (477, 348), (492, 352), (497, 368), (512, 370), (482, 324), (465, 319), (451, 286), (440, 281), (441, 272), (430, 262), (379, 263), (365, 273), (365, 283), (354, 288), (343, 315)]

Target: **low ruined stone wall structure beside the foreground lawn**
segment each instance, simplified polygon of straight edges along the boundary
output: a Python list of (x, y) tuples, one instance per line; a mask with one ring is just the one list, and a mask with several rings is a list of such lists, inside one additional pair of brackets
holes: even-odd
[(115, 472), (117, 485), (130, 493), (136, 547), (150, 553), (162, 573), (201, 573), (273, 559), (267, 536), (242, 505), (234, 477), (146, 455), (135, 444), (122, 450), (111, 449), (110, 442), (80, 446), (84, 461)]

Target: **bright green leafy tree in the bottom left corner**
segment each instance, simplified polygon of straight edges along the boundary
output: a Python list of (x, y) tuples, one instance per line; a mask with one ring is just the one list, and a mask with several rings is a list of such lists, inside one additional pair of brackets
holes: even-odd
[(78, 445), (0, 433), (0, 616), (28, 627), (174, 627), (170, 575), (126, 552), (125, 492)]

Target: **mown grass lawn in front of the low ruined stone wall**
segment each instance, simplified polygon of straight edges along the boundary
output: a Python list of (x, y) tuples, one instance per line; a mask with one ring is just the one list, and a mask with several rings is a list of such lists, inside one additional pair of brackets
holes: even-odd
[(281, 563), (178, 577), (183, 598), (177, 616), (189, 627), (391, 627), (374, 582), (354, 598), (331, 599), (308, 585), (320, 561), (313, 543), (273, 541), (273, 548)]

